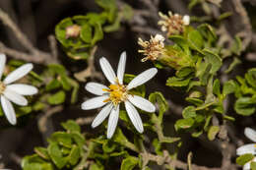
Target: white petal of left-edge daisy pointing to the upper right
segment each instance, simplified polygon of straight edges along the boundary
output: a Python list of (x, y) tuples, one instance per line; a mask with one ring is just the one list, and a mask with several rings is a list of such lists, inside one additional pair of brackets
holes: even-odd
[(25, 65), (19, 67), (18, 69), (16, 69), (15, 71), (13, 71), (12, 73), (10, 73), (5, 78), (4, 83), (6, 85), (11, 84), (11, 83), (23, 78), (31, 71), (32, 71), (32, 63), (25, 64)]

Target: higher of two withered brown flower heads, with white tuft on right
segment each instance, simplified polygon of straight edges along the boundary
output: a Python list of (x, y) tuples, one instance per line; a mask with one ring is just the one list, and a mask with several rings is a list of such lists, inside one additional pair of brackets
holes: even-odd
[(183, 32), (184, 26), (188, 26), (190, 22), (189, 16), (172, 15), (170, 11), (168, 12), (168, 16), (162, 13), (159, 13), (159, 15), (161, 20), (158, 24), (161, 26), (161, 31), (167, 32), (167, 36)]

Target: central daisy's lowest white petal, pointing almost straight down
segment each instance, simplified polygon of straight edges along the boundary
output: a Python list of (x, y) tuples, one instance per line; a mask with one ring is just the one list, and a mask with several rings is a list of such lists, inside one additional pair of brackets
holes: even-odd
[(113, 108), (111, 110), (111, 113), (107, 122), (107, 134), (106, 134), (107, 139), (111, 139), (112, 136), (114, 135), (118, 118), (119, 118), (119, 104), (117, 105), (116, 108)]

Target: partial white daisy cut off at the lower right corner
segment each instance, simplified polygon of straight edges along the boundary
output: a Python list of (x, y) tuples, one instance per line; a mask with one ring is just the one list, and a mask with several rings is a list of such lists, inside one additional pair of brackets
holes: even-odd
[[(249, 140), (251, 140), (252, 142), (256, 142), (256, 131), (254, 131), (251, 128), (245, 128), (244, 130), (244, 135), (245, 137), (247, 137)], [(238, 147), (236, 149), (236, 154), (237, 155), (242, 155), (242, 154), (246, 154), (246, 153), (251, 153), (256, 155), (256, 143), (249, 143), (249, 144), (244, 144), (240, 147)], [(256, 162), (256, 157), (254, 157), (251, 161)], [(244, 166), (243, 166), (243, 170), (250, 170), (250, 162), (247, 162)]]

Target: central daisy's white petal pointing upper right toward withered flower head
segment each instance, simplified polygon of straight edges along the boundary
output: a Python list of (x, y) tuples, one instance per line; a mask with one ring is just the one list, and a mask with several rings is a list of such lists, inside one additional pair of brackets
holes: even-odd
[(143, 73), (141, 73), (140, 75), (135, 77), (129, 83), (129, 85), (127, 85), (127, 89), (131, 89), (131, 88), (134, 88), (136, 86), (145, 84), (146, 82), (150, 81), (153, 77), (155, 77), (155, 75), (157, 73), (158, 73), (158, 69), (156, 69), (156, 68), (151, 68), (149, 70), (144, 71)]

